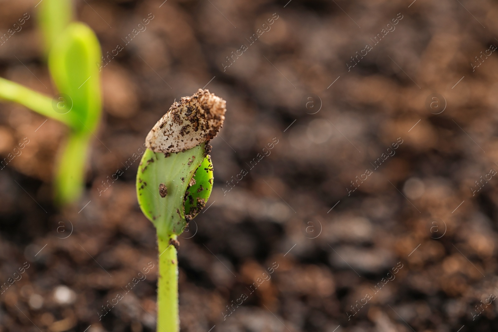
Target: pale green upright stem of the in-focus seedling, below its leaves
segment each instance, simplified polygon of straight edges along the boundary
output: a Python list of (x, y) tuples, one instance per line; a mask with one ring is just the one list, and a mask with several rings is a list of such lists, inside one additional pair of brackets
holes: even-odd
[[(176, 240), (176, 235), (171, 238)], [(157, 237), (159, 279), (157, 282), (157, 332), (179, 332), (178, 258), (168, 239)]]

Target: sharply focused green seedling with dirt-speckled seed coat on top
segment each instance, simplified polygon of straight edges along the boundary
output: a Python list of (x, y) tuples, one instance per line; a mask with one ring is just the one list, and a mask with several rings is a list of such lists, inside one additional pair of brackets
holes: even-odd
[(225, 119), (226, 102), (208, 90), (183, 97), (150, 130), (136, 175), (138, 204), (157, 230), (157, 331), (178, 332), (180, 235), (213, 189), (209, 141)]

